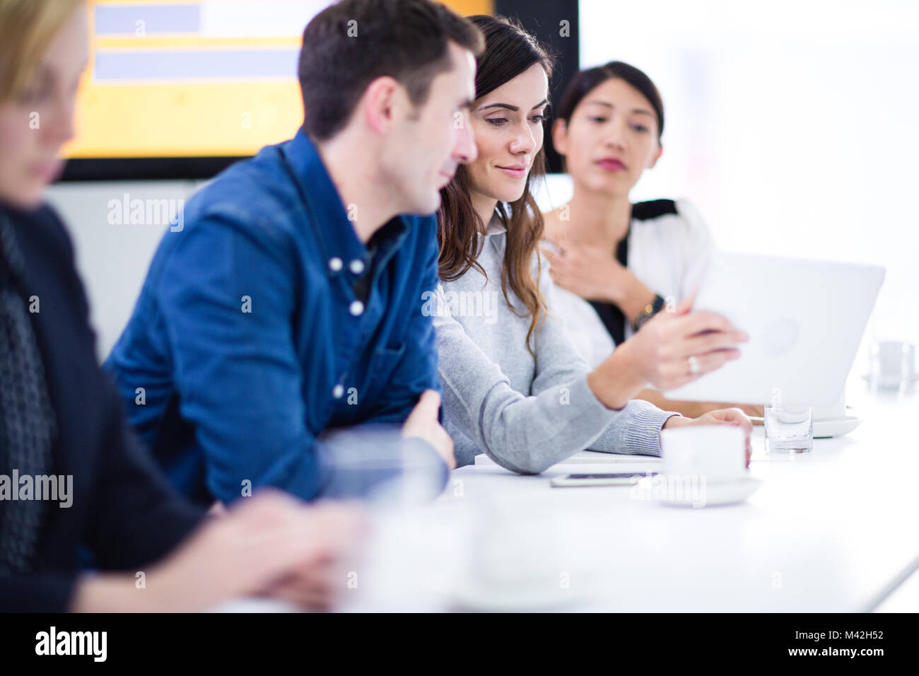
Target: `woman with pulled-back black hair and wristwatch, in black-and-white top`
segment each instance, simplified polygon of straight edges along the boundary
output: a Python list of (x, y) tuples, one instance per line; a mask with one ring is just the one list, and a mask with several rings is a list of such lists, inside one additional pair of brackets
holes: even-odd
[[(688, 201), (630, 201), (630, 190), (664, 153), (664, 103), (646, 74), (621, 62), (576, 74), (552, 132), (574, 194), (545, 214), (544, 250), (561, 287), (556, 309), (596, 365), (668, 299), (691, 295), (714, 243)], [(670, 401), (655, 389), (638, 396), (687, 416), (732, 406)], [(763, 415), (763, 407), (741, 408)]]

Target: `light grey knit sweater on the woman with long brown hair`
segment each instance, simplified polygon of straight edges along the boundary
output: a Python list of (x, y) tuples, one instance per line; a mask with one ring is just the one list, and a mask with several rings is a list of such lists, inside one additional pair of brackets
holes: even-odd
[[(589, 367), (562, 320), (552, 315), (549, 264), (541, 259), (539, 288), (549, 315), (526, 346), (530, 317), (513, 292), (513, 309), (501, 292), (506, 232), (493, 221), (479, 264), (442, 282), (425, 299), (437, 327), (438, 375), (443, 385), (444, 427), (455, 443), (458, 466), (487, 453), (521, 474), (538, 474), (584, 449), (660, 455), (667, 413), (648, 402), (605, 407), (587, 385)], [(537, 256), (531, 269), (537, 275)], [(515, 310), (516, 313), (515, 314)]]

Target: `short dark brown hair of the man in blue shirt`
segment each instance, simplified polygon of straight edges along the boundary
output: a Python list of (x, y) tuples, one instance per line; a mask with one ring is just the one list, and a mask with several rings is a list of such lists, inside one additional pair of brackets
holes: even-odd
[(448, 43), (478, 56), (482, 33), (431, 0), (342, 0), (326, 7), (303, 31), (300, 86), (303, 130), (324, 140), (340, 132), (357, 101), (389, 75), (422, 105), (434, 77), (450, 67)]

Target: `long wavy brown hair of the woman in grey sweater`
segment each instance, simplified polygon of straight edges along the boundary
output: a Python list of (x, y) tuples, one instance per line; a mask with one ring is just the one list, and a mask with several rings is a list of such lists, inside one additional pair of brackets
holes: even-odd
[[(485, 36), (485, 51), (476, 60), (475, 97), (482, 98), (499, 86), (514, 79), (534, 63), (540, 63), (551, 77), (553, 58), (518, 22), (506, 17), (478, 15), (469, 17)], [(507, 294), (508, 287), (527, 307), (530, 315), (527, 332), (527, 349), (531, 347), (533, 332), (545, 312), (545, 301), (539, 292), (537, 279), (541, 268), (538, 263), (537, 279), (530, 271), (530, 261), (542, 237), (543, 219), (531, 187), (546, 175), (546, 155), (543, 148), (533, 159), (527, 185), (520, 199), (505, 204), (498, 202), (497, 212), (507, 229), (505, 262), (501, 269), (501, 292), (505, 301), (516, 313)], [(482, 223), (472, 207), (469, 173), (459, 166), (456, 175), (440, 191), (440, 209), (437, 211), (437, 240), (440, 245), (438, 260), (440, 279), (459, 279), (470, 268), (485, 270), (476, 260), (482, 252), (482, 237), (488, 223)], [(539, 257), (537, 257), (539, 261)], [(521, 315), (526, 316), (526, 315)]]

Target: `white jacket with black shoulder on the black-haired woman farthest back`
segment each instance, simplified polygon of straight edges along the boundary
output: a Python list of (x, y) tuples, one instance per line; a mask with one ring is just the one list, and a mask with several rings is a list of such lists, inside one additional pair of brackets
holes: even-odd
[[(632, 210), (627, 268), (664, 298), (683, 300), (702, 278), (715, 250), (709, 229), (685, 199), (638, 202)], [(559, 286), (550, 312), (562, 318), (574, 344), (592, 367), (616, 347), (594, 308)], [(626, 326), (626, 339), (634, 331)]]

